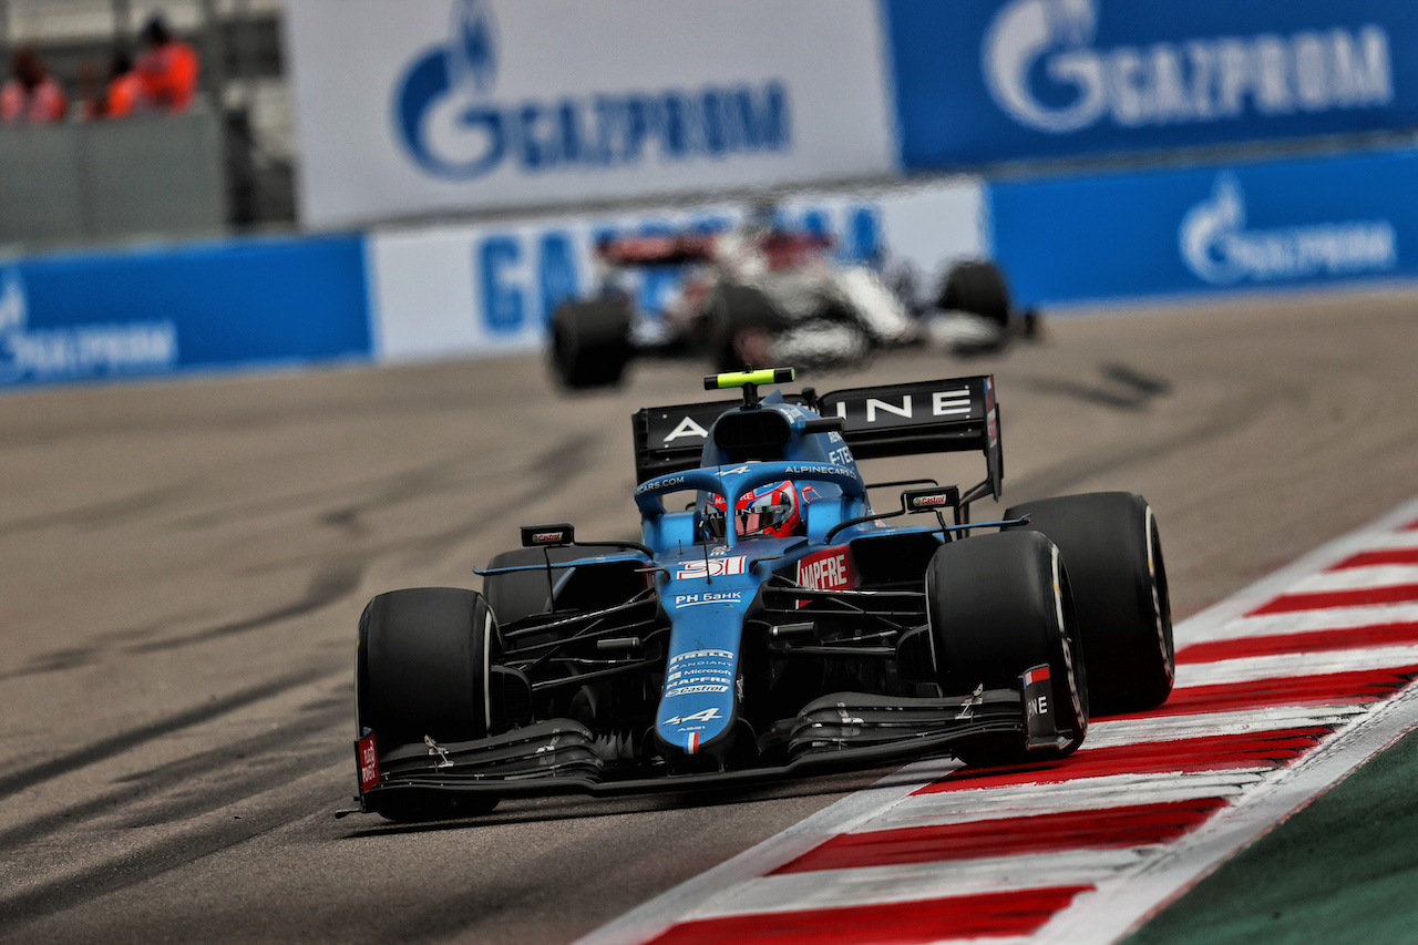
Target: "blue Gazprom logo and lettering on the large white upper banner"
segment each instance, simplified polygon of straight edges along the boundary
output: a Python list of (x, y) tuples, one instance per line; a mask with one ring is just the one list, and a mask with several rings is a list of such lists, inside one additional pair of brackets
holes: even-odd
[(523, 173), (591, 170), (793, 145), (781, 79), (499, 102), (499, 65), (491, 0), (455, 0), (448, 41), (420, 55), (394, 91), (398, 138), (424, 172), (468, 180), (501, 165)]

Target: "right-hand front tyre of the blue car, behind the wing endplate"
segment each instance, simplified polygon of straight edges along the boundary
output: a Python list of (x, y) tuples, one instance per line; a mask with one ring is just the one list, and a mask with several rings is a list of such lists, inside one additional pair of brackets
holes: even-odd
[(942, 545), (926, 568), (926, 619), (943, 692), (1014, 688), (1046, 663), (1062, 748), (1032, 749), (1022, 736), (963, 746), (970, 765), (1071, 755), (1088, 734), (1089, 682), (1078, 658), (1068, 572), (1044, 535), (998, 532)]

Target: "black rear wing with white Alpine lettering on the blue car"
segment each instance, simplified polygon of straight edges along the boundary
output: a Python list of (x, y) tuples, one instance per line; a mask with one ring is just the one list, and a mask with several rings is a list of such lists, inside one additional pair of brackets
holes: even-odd
[[(1000, 498), (1004, 454), (993, 375), (852, 387), (813, 402), (784, 394), (784, 400), (813, 407), (824, 417), (841, 417), (842, 438), (858, 460), (980, 450), (987, 470), (981, 494), (987, 490)], [(635, 481), (698, 467), (713, 421), (739, 406), (737, 400), (720, 400), (637, 411), (631, 417)]]

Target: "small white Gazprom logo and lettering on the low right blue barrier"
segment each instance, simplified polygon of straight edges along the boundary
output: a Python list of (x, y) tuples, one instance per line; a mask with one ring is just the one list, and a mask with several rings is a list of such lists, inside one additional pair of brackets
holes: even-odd
[(1383, 219), (1246, 228), (1245, 193), (1229, 172), (1217, 175), (1211, 196), (1183, 217), (1177, 243), (1187, 268), (1212, 285), (1383, 272), (1398, 264), (1398, 236)]

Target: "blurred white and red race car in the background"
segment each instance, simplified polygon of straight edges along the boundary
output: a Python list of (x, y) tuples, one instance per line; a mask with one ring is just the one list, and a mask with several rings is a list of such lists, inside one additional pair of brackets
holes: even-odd
[[(908, 272), (888, 287), (872, 267), (834, 260), (828, 237), (770, 226), (611, 238), (597, 257), (597, 298), (563, 302), (552, 316), (552, 370), (570, 389), (620, 383), (637, 356), (706, 355), (719, 370), (828, 369), (926, 343), (994, 350), (1037, 324), (1034, 312), (1014, 312), (993, 262), (956, 264), (922, 301)], [(635, 301), (647, 277), (672, 285), (659, 311)]]

